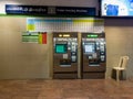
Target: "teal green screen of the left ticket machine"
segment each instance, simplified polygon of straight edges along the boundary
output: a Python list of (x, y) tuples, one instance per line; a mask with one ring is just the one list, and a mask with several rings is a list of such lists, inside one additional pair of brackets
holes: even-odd
[(66, 53), (66, 44), (55, 44), (55, 53)]

